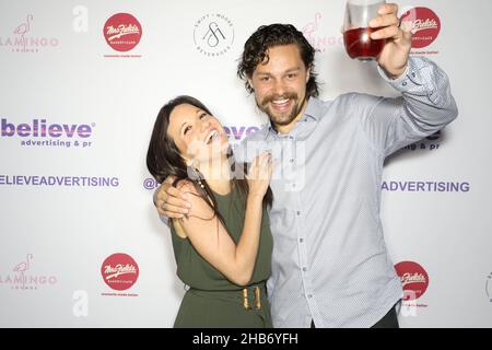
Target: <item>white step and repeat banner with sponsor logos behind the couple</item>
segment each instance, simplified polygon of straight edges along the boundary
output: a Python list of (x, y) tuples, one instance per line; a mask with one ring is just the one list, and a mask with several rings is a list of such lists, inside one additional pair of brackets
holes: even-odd
[[(490, 0), (406, 1), (412, 56), (449, 75), (459, 117), (390, 156), (386, 244), (402, 327), (492, 327)], [(0, 0), (0, 326), (171, 327), (183, 283), (145, 155), (161, 106), (198, 97), (232, 143), (266, 121), (236, 77), (260, 25), (317, 49), (323, 100), (396, 96), (351, 60), (344, 1)]]

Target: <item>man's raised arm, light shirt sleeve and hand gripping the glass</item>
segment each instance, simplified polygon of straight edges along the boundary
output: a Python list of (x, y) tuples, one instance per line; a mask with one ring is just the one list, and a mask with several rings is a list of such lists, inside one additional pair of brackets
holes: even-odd
[(458, 115), (447, 75), (429, 59), (410, 58), (411, 25), (400, 25), (397, 14), (398, 5), (387, 3), (370, 26), (383, 27), (371, 34), (373, 39), (386, 39), (378, 70), (401, 97), (352, 95), (364, 131), (385, 156), (436, 132)]

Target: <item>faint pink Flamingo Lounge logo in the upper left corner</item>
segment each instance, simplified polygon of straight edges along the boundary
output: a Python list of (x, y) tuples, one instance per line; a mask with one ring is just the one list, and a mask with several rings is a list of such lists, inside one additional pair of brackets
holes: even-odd
[(58, 38), (36, 31), (34, 14), (26, 14), (7, 36), (0, 36), (0, 47), (16, 54), (38, 54), (60, 45)]

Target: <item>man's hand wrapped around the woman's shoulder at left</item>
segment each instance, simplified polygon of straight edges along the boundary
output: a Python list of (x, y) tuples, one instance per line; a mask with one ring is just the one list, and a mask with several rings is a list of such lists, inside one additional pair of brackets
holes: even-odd
[(181, 219), (188, 213), (191, 205), (188, 202), (188, 195), (173, 186), (174, 179), (174, 176), (168, 176), (157, 188), (155, 207), (161, 215)]

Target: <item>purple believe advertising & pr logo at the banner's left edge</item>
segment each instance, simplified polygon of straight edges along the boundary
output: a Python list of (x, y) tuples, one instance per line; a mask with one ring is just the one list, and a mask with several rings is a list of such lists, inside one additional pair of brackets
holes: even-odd
[(1, 118), (0, 127), (1, 140), (21, 140), (23, 147), (91, 148), (95, 124), (57, 124), (47, 119), (17, 124)]

